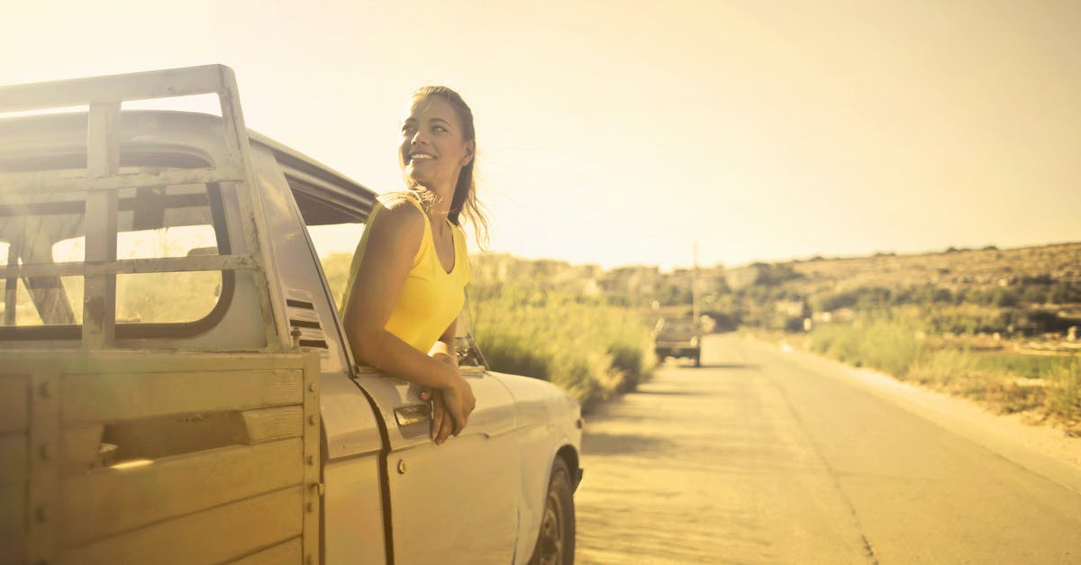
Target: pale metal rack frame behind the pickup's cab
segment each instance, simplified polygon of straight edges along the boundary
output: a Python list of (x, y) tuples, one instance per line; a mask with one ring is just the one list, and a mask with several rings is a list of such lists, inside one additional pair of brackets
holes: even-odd
[[(213, 168), (165, 170), (157, 173), (120, 173), (120, 108), (123, 102), (217, 94), (225, 130), (226, 162)], [(263, 312), (267, 347), (288, 349), (285, 325), (279, 324), (273, 304), (280, 304), (280, 289), (267, 273), (272, 272), (269, 234), (263, 202), (255, 188), (248, 128), (240, 109), (237, 81), (223, 65), (92, 77), (36, 84), (0, 87), (0, 113), (15, 113), (89, 105), (86, 124), (86, 174), (67, 171), (0, 173), (3, 203), (27, 203), (29, 195), (80, 192), (86, 195), (85, 263), (52, 265), (9, 265), (2, 277), (36, 275), (82, 275), (84, 281), (83, 347), (108, 349), (116, 343), (116, 278), (129, 273), (179, 271), (256, 272), (256, 288)], [(122, 188), (193, 183), (232, 183), (239, 195), (241, 232), (246, 254), (191, 257), (151, 260), (117, 260), (117, 199)], [(16, 198), (10, 197), (15, 195)], [(17, 198), (22, 196), (23, 198)]]

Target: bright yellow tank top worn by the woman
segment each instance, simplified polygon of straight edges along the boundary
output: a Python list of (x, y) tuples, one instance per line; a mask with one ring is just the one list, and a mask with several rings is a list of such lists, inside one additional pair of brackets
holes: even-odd
[[(406, 193), (408, 194), (408, 193)], [(405, 198), (424, 214), (424, 236), (421, 239), (421, 248), (417, 249), (413, 258), (413, 267), (405, 278), (398, 303), (390, 312), (384, 328), (395, 337), (409, 343), (414, 349), (428, 353), (436, 340), (443, 334), (443, 331), (457, 317), (465, 302), (465, 287), (469, 281), (469, 258), (467, 257), (465, 235), (462, 229), (450, 223), (451, 234), (454, 239), (454, 266), (448, 273), (439, 262), (439, 253), (436, 252), (436, 244), (431, 236), (431, 223), (428, 214), (424, 213), (412, 196)], [(342, 297), (341, 313), (344, 317), (345, 305), (349, 301), (349, 293), (352, 291), (353, 280), (357, 278), (357, 271), (360, 268), (360, 261), (364, 257), (364, 249), (368, 246), (368, 235), (375, 215), (384, 209), (383, 201), (376, 202), (372, 213), (368, 216), (368, 226), (364, 235), (357, 245), (357, 251), (352, 255), (352, 263), (349, 266), (349, 280), (346, 282), (345, 293)]]

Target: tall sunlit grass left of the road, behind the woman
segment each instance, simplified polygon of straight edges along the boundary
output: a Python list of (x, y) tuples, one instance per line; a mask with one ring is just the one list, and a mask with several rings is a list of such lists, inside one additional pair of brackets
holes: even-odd
[[(322, 260), (336, 300), (350, 255)], [(633, 390), (656, 364), (652, 324), (598, 293), (536, 276), (537, 264), (477, 255), (467, 288), (472, 333), (492, 370), (551, 381), (588, 409)]]

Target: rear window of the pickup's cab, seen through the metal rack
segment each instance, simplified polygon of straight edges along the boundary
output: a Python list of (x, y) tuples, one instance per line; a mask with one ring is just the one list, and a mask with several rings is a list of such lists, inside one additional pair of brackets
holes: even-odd
[[(117, 259), (154, 260), (226, 254), (228, 239), (216, 186), (121, 189), (117, 199)], [(0, 265), (71, 265), (85, 261), (85, 195), (35, 196), (0, 208)], [(178, 337), (208, 329), (232, 273), (117, 275), (118, 337)], [(81, 274), (30, 275), (4, 281), (0, 332), (6, 339), (77, 339), (82, 324)], [(38, 327), (35, 331), (29, 327)], [(55, 327), (50, 331), (49, 327)], [(45, 330), (46, 333), (42, 333)]]

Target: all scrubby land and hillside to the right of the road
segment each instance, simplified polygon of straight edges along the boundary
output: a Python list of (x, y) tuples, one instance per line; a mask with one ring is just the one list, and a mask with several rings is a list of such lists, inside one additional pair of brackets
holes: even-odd
[(1081, 436), (1081, 245), (752, 267), (739, 327)]

